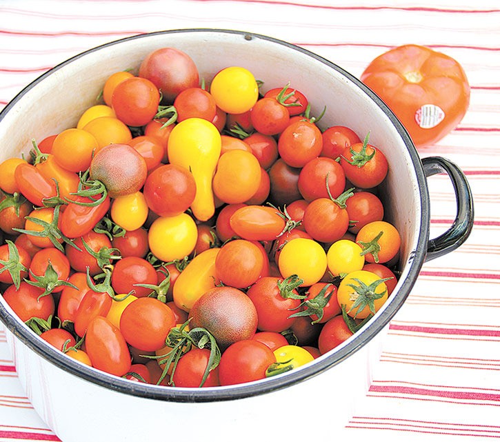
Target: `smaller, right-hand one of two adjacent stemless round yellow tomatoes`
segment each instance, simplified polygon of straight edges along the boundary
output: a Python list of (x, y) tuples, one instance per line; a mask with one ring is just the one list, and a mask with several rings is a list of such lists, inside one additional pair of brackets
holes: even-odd
[(361, 270), (365, 265), (363, 249), (354, 241), (339, 239), (335, 241), (326, 253), (328, 270), (334, 277), (343, 277), (354, 270)]

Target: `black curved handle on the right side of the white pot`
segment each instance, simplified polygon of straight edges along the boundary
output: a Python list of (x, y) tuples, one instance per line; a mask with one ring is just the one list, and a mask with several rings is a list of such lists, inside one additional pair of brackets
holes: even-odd
[(422, 159), (422, 165), (426, 177), (446, 173), (457, 200), (457, 216), (451, 227), (428, 242), (426, 261), (430, 261), (459, 248), (468, 239), (474, 223), (474, 204), (466, 176), (456, 164), (441, 157), (426, 157)]

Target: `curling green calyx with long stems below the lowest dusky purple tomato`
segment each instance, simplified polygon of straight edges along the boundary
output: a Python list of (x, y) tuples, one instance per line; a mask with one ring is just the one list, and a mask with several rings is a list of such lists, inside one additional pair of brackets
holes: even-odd
[(179, 363), (181, 356), (186, 354), (192, 346), (210, 349), (210, 356), (208, 357), (207, 367), (201, 378), (200, 387), (202, 387), (203, 383), (205, 383), (210, 371), (214, 370), (219, 365), (219, 362), (221, 361), (221, 350), (219, 350), (219, 346), (217, 345), (214, 336), (206, 330), (206, 328), (201, 327), (186, 331), (189, 321), (190, 320), (186, 321), (180, 327), (172, 328), (172, 330), (168, 333), (166, 346), (172, 348), (172, 350), (160, 356), (152, 356), (155, 359), (158, 359), (158, 363), (160, 365), (165, 364), (165, 368), (163, 369), (163, 373), (161, 374), (157, 385), (165, 379), (165, 376), (171, 366), (172, 372), (170, 374), (169, 385), (174, 385), (172, 379), (177, 368), (177, 363)]

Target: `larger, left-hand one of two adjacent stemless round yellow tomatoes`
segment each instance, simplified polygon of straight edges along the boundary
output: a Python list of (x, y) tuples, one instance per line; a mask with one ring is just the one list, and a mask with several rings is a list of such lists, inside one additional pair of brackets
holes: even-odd
[(278, 259), (283, 278), (296, 274), (302, 287), (317, 283), (326, 272), (326, 252), (321, 245), (308, 238), (295, 238), (285, 243)]

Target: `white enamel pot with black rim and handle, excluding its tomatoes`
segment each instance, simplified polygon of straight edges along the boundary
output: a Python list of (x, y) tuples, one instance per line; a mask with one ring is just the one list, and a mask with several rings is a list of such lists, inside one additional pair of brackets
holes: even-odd
[[(143, 34), (61, 63), (1, 112), (0, 159), (28, 152), (33, 138), (40, 140), (75, 127), (81, 113), (95, 104), (110, 74), (130, 68), (137, 72), (146, 54), (166, 46), (187, 52), (206, 79), (221, 68), (243, 66), (265, 81), (264, 90), (290, 81), (306, 94), (313, 115), (326, 106), (323, 127), (346, 125), (361, 136), (370, 131), (370, 143), (383, 150), (390, 165), (383, 194), (388, 221), (402, 237), (397, 288), (360, 332), (313, 363), (264, 381), (206, 389), (145, 385), (88, 368), (39, 339), (0, 297), (0, 317), (9, 330), (19, 379), (41, 418), (64, 442), (149, 441), (153, 437), (308, 440), (313, 434), (315, 439), (333, 439), (368, 390), (381, 338), (408, 297), (421, 265), (459, 247), (470, 234), (473, 208), (468, 183), (446, 159), (421, 161), (394, 114), (339, 66), (289, 43), (232, 30)], [(438, 172), (450, 177), (458, 209), (451, 228), (430, 240), (426, 177)], [(335, 400), (319, 405), (317, 401), (328, 396)], [(313, 417), (314, 425), (308, 423)]]

